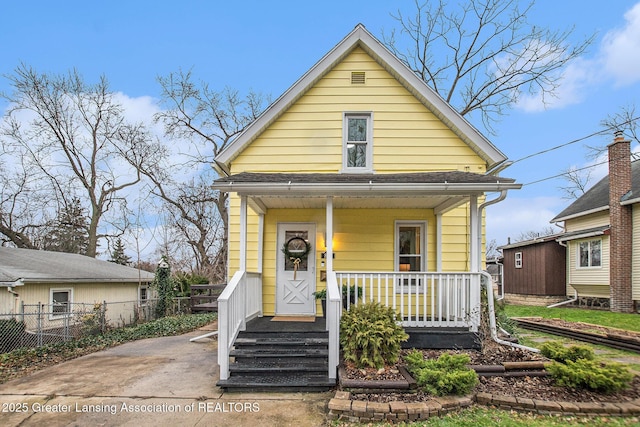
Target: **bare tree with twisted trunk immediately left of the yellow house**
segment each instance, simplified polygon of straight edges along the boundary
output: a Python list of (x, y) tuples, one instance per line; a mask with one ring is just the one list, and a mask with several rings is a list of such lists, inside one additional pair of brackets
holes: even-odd
[(211, 191), (203, 177), (210, 176), (217, 155), (258, 117), (269, 98), (254, 92), (242, 98), (229, 88), (213, 90), (194, 82), (190, 71), (159, 77), (158, 82), (166, 109), (156, 115), (156, 121), (164, 125), (166, 136), (189, 141), (195, 149), (186, 163), (171, 167), (200, 171), (200, 175), (180, 182), (158, 167), (143, 173), (174, 215), (175, 227), (192, 247), (199, 272), (219, 280), (226, 270), (228, 196)]

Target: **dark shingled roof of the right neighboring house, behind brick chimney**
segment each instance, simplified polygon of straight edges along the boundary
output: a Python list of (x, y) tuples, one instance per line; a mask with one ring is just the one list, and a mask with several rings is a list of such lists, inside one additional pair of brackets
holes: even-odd
[[(631, 162), (631, 194), (625, 197), (623, 204), (638, 202), (640, 198), (640, 160)], [(550, 222), (601, 212), (609, 209), (609, 175), (602, 178), (582, 196), (571, 203)]]

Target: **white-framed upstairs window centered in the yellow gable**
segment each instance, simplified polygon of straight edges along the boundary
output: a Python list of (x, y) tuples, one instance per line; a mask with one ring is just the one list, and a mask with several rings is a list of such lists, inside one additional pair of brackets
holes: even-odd
[(345, 172), (373, 170), (373, 138), (371, 113), (345, 113), (342, 168)]

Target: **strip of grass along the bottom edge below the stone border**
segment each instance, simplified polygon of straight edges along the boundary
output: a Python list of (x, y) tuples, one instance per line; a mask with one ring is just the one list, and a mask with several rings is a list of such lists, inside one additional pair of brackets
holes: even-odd
[(340, 423), (335, 422), (335, 426), (398, 426), (398, 427), (478, 427), (478, 426), (501, 426), (501, 427), (556, 427), (556, 426), (593, 426), (593, 427), (621, 427), (637, 426), (640, 419), (637, 417), (576, 417), (576, 416), (551, 416), (534, 415), (514, 411), (503, 411), (499, 409), (489, 409), (473, 407), (459, 412), (452, 412), (442, 417), (434, 417), (426, 421), (413, 423)]

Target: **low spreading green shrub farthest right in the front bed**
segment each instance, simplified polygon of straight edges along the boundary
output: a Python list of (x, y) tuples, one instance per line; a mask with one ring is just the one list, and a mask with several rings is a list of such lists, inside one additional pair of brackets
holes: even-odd
[(573, 389), (586, 388), (600, 393), (623, 390), (633, 380), (629, 368), (620, 363), (602, 364), (594, 360), (567, 360), (546, 367), (556, 385)]

